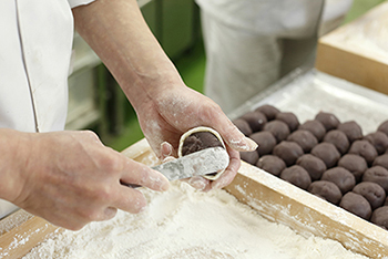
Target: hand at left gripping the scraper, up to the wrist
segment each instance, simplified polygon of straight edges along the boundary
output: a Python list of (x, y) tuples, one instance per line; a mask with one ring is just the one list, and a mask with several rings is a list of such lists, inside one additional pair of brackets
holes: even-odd
[(123, 184), (170, 186), (162, 174), (105, 147), (92, 132), (20, 134), (18, 177), (6, 198), (57, 226), (78, 230), (113, 218), (118, 209), (141, 211), (144, 196)]

